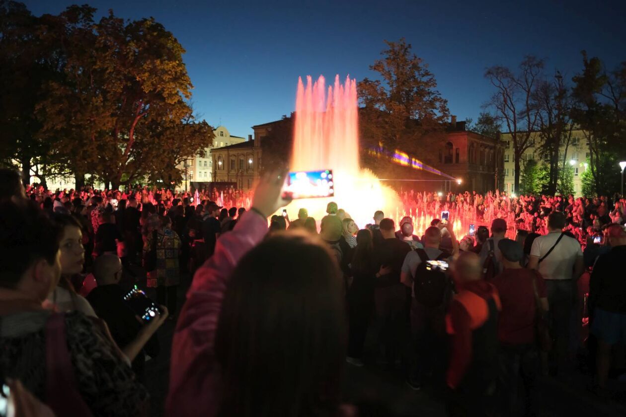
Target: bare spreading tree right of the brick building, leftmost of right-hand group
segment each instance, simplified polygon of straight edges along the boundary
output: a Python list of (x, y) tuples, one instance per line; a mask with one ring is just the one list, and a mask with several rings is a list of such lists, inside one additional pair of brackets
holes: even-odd
[(515, 162), (515, 192), (520, 189), (521, 158), (531, 146), (531, 135), (537, 128), (538, 112), (533, 108), (532, 97), (543, 69), (543, 59), (526, 56), (518, 73), (504, 66), (493, 66), (485, 71), (485, 78), (495, 87), (486, 107), (493, 108), (498, 121), (511, 134)]

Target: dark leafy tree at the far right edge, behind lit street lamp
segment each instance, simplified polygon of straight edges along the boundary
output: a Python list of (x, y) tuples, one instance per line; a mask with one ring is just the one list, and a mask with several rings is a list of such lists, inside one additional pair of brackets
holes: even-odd
[(600, 59), (582, 56), (583, 71), (572, 78), (572, 119), (589, 148), (587, 188), (606, 195), (619, 189), (617, 163), (626, 158), (626, 62), (608, 72)]

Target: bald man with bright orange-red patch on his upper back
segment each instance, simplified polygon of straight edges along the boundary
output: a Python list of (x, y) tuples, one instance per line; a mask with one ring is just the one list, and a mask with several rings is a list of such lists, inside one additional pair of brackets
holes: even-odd
[(493, 403), (498, 378), (498, 311), (500, 298), (481, 279), (477, 254), (463, 252), (454, 263), (458, 294), (446, 324), (451, 334), (451, 358), (446, 382), (454, 390), (449, 414), (483, 416)]

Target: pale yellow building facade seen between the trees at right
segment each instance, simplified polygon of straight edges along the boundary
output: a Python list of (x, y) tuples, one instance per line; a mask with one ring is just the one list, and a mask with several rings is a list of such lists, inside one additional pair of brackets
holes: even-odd
[[(513, 139), (510, 133), (501, 134), (501, 141), (505, 146), (504, 154), (504, 184), (501, 191), (512, 193), (515, 189), (515, 150)], [(530, 148), (526, 149), (521, 157), (520, 169), (524, 168), (526, 161), (534, 159), (538, 163), (549, 163), (550, 155), (541, 152), (544, 139), (539, 132), (533, 132), (530, 136)], [(570, 164), (573, 168), (574, 195), (582, 196), (582, 174), (587, 169), (587, 159), (589, 158), (589, 148), (587, 139), (582, 130), (573, 130), (569, 144), (562, 144), (559, 151), (560, 164)], [(521, 173), (520, 173), (521, 174)], [(521, 177), (520, 177), (521, 178)]]

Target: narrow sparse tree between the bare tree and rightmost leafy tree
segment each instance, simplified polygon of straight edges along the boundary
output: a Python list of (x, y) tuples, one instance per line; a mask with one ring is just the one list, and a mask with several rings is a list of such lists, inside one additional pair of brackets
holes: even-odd
[[(552, 80), (542, 79), (533, 95), (533, 106), (538, 114), (541, 153), (548, 161), (546, 193), (554, 194), (560, 188), (560, 173), (568, 169), (567, 151), (572, 141), (574, 124), (570, 119), (572, 100), (559, 71)], [(565, 146), (565, 151), (561, 149)]]

